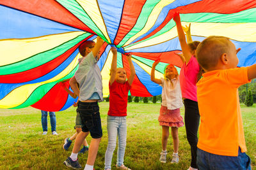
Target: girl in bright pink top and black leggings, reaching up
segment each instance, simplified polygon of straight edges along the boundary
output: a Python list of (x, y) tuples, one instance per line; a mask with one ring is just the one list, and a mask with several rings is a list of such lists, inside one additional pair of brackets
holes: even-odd
[(183, 66), (180, 70), (180, 89), (185, 106), (185, 127), (189, 145), (191, 147), (191, 164), (189, 169), (197, 169), (196, 166), (196, 150), (197, 150), (197, 132), (199, 126), (200, 115), (198, 111), (198, 103), (196, 97), (196, 82), (200, 78), (200, 66), (195, 58), (195, 50), (199, 41), (193, 41), (190, 35), (190, 25), (186, 27), (186, 37), (182, 29), (179, 13), (175, 13), (173, 20), (176, 22), (176, 27), (179, 35), (180, 46), (183, 55), (180, 59), (183, 61)]

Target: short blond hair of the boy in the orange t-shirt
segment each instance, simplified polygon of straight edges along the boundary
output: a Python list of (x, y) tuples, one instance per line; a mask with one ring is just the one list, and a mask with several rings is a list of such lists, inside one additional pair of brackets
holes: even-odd
[(198, 64), (206, 70), (217, 66), (221, 55), (228, 53), (230, 42), (225, 36), (209, 36), (204, 39), (196, 48)]

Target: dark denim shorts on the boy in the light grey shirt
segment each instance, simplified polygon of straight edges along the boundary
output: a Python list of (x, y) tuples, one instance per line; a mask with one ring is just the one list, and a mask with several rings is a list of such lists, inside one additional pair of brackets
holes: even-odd
[(102, 128), (98, 103), (85, 103), (79, 101), (77, 111), (81, 116), (82, 131), (89, 131), (92, 138), (101, 138)]

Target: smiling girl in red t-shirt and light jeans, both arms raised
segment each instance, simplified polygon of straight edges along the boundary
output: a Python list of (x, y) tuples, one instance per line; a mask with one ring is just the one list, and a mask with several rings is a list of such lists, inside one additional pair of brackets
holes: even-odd
[[(107, 119), (108, 129), (108, 148), (105, 153), (105, 169), (111, 169), (113, 152), (116, 148), (116, 136), (118, 136), (118, 150), (116, 168), (128, 169), (124, 166), (124, 153), (126, 146), (126, 115), (127, 98), (131, 89), (131, 84), (135, 76), (135, 69), (132, 64), (131, 54), (127, 55), (131, 74), (126, 80), (127, 75), (124, 68), (116, 68), (117, 53), (116, 48), (111, 47), (113, 59), (111, 63), (109, 79), (109, 111)], [(131, 170), (131, 169), (130, 169)]]

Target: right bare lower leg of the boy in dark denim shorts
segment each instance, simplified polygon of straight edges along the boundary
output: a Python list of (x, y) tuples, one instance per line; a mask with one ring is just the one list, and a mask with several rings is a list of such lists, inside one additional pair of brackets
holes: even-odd
[(97, 157), (97, 153), (98, 153), (99, 145), (100, 145), (100, 140), (101, 140), (101, 138), (97, 138), (97, 139), (92, 138), (91, 145), (89, 147), (88, 159), (87, 159), (87, 162), (86, 162), (86, 164), (88, 164), (90, 166), (93, 166), (93, 164), (95, 162), (95, 159)]

